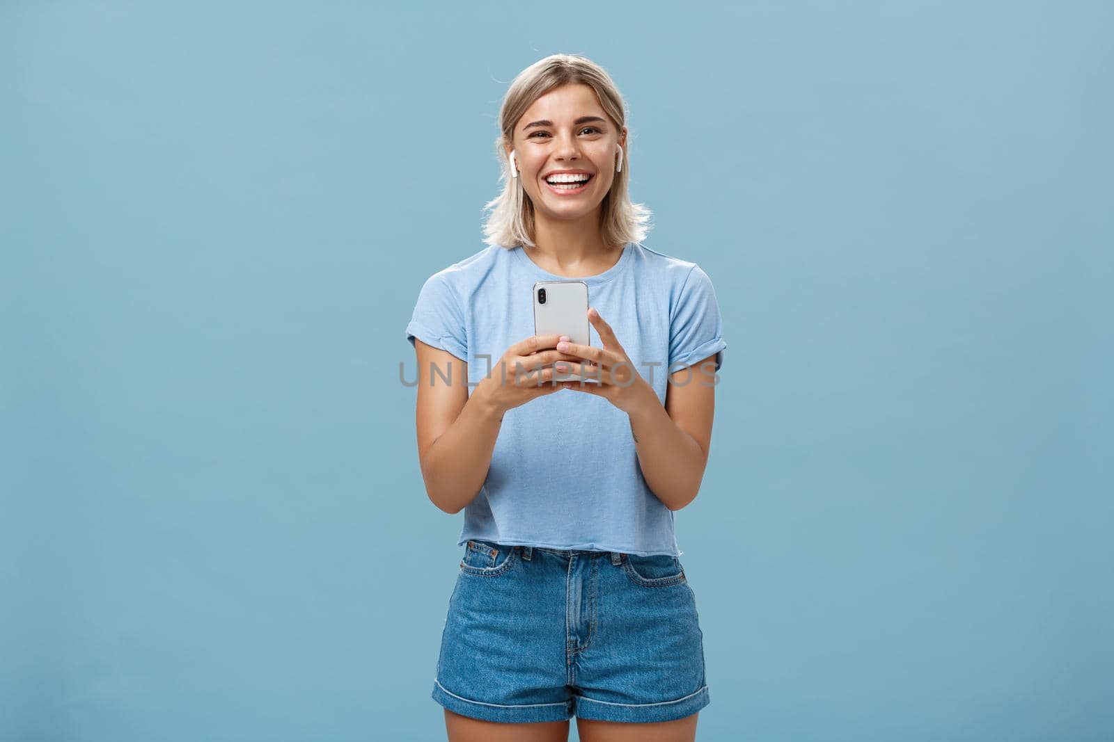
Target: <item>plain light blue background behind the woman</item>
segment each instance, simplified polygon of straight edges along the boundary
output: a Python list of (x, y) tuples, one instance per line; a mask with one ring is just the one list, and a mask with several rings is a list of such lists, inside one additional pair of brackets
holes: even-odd
[(724, 315), (698, 738), (1111, 740), (1110, 8), (3, 3), (0, 738), (443, 739), (403, 328), (565, 51)]

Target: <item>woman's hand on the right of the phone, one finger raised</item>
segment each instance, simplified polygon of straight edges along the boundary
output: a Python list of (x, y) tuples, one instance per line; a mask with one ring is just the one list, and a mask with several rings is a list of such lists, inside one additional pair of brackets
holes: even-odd
[(557, 350), (573, 354), (575, 363), (558, 363), (558, 372), (573, 372), (592, 382), (558, 382), (566, 389), (586, 392), (604, 397), (613, 405), (629, 414), (645, 408), (646, 405), (661, 406), (661, 400), (654, 388), (635, 370), (634, 363), (627, 357), (626, 350), (619, 345), (612, 326), (604, 321), (596, 308), (588, 309), (588, 321), (596, 328), (604, 347), (560, 342)]

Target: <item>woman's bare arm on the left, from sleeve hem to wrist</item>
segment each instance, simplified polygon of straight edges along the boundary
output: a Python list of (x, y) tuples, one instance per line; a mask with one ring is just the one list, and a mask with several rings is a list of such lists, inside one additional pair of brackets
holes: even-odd
[(466, 362), (418, 338), (414, 348), (418, 458), (426, 494), (446, 513), (459, 513), (483, 486), (502, 414), (487, 402), (483, 384), (468, 396)]

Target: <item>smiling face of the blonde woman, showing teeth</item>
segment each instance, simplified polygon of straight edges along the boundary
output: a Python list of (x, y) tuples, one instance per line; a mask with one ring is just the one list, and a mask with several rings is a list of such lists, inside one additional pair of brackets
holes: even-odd
[[(539, 216), (578, 219), (599, 208), (615, 180), (617, 147), (625, 145), (626, 129), (604, 112), (596, 91), (566, 85), (534, 101), (515, 125), (515, 166)], [(587, 174), (587, 184), (547, 182), (564, 170)]]

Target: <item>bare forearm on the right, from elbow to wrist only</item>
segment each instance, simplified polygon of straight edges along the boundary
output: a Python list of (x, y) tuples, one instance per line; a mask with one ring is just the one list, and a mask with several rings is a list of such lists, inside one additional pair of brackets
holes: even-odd
[(642, 475), (657, 498), (671, 511), (691, 503), (707, 463), (696, 439), (673, 422), (656, 397), (654, 404), (631, 414), (631, 434)]

